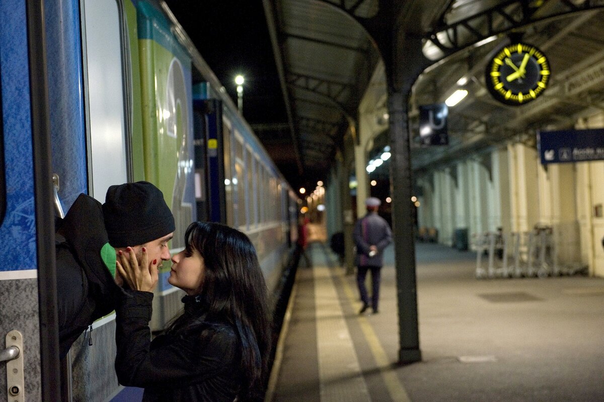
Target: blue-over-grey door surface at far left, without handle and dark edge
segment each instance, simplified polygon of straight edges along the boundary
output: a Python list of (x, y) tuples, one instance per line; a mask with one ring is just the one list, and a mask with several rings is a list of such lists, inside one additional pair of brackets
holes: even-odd
[[(23, 334), (24, 390), (40, 400), (40, 330), (34, 213), (31, 108), (25, 1), (0, 2), (0, 89), (4, 145), (5, 216), (0, 226), (0, 339), (11, 330)], [(0, 398), (8, 400), (5, 363), (0, 364)]]

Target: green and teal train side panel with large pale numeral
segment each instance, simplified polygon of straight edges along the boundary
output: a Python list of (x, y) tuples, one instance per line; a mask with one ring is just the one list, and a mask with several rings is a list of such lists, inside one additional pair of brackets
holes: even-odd
[[(173, 253), (195, 219), (191, 60), (173, 37), (164, 14), (138, 3), (144, 171), (164, 193), (176, 222)], [(168, 283), (170, 262), (159, 270), (152, 329), (161, 330), (182, 308), (182, 292)]]

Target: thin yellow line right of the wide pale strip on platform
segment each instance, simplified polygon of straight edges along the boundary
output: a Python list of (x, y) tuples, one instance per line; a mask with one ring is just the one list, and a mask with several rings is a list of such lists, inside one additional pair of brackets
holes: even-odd
[[(336, 269), (336, 275), (340, 279), (342, 286), (344, 286), (344, 293), (346, 297), (349, 299), (350, 304), (354, 306), (356, 301), (356, 296), (352, 289), (350, 289), (350, 285), (346, 278), (344, 277), (341, 269)], [(371, 354), (373, 354), (373, 359), (375, 359), (377, 368), (379, 368), (380, 374), (382, 374), (382, 378), (384, 379), (384, 383), (386, 388), (388, 388), (388, 392), (390, 393), (390, 397), (394, 402), (411, 402), (409, 395), (407, 394), (405, 387), (400, 383), (399, 378), (396, 375), (396, 372), (391, 368), (391, 362), (388, 360), (388, 355), (386, 351), (382, 347), (382, 344), (377, 339), (377, 335), (373, 330), (370, 322), (367, 317), (359, 315), (358, 316), (359, 325), (361, 325), (361, 330), (365, 335), (365, 340), (369, 345), (371, 350)]]

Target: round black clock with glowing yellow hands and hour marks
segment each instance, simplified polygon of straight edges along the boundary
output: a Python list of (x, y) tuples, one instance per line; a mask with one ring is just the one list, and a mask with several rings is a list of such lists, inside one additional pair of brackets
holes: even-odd
[(524, 105), (547, 88), (550, 64), (545, 54), (526, 43), (508, 45), (487, 64), (485, 82), (490, 93), (507, 105)]

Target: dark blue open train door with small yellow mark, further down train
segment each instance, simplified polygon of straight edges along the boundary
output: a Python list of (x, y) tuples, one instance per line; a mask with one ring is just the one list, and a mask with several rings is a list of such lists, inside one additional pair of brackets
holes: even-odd
[(222, 101), (193, 102), (197, 219), (226, 223)]

